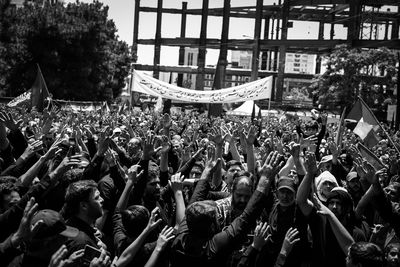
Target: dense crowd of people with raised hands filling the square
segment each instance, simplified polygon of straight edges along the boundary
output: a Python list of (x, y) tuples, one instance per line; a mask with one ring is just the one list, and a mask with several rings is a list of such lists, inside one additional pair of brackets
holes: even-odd
[(313, 115), (2, 107), (0, 266), (400, 266), (398, 148)]

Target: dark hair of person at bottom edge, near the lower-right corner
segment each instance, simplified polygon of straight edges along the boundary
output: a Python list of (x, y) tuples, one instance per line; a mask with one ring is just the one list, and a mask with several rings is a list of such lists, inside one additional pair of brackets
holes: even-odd
[(356, 242), (350, 246), (349, 257), (353, 264), (361, 267), (383, 266), (382, 250), (375, 244), (369, 242)]

